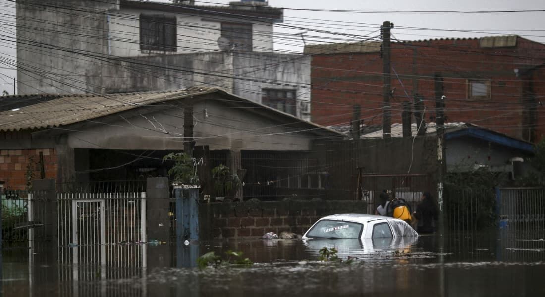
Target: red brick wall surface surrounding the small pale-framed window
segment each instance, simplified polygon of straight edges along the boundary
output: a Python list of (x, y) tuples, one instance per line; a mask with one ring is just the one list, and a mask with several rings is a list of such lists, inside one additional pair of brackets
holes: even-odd
[[(414, 52), (416, 49), (416, 53)], [(401, 123), (402, 102), (424, 96), (426, 122), (434, 113), (433, 76), (444, 77), (447, 122), (470, 122), (522, 137), (522, 78), (514, 69), (545, 62), (545, 45), (523, 38), (516, 47), (481, 48), (479, 39), (392, 44), (392, 123)], [(318, 55), (312, 59), (312, 121), (348, 124), (352, 106), (361, 106), (367, 125), (381, 125), (383, 60), (378, 53)], [(397, 72), (397, 75), (395, 74)], [(468, 99), (467, 80), (490, 80), (491, 98)], [(537, 79), (534, 87), (545, 80)], [(414, 119), (413, 119), (414, 122)]]

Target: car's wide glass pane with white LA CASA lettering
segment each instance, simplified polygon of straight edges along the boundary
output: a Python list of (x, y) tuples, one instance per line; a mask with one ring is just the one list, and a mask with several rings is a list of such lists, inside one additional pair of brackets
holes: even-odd
[(309, 238), (360, 238), (363, 228), (364, 225), (360, 223), (321, 220), (312, 226), (306, 236)]

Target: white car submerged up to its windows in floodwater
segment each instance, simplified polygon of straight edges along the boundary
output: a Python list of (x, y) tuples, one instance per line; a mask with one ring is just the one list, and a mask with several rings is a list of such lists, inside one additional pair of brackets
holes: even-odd
[(405, 221), (393, 217), (339, 214), (322, 217), (302, 239), (415, 237), (418, 233)]

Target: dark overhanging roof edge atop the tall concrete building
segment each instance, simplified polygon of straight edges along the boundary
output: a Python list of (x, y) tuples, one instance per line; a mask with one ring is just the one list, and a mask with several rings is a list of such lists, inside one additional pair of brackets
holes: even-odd
[[(282, 22), (284, 9), (251, 5), (229, 6), (200, 6), (183, 5), (173, 3), (153, 3), (122, 0), (119, 3), (121, 9), (144, 9), (149, 11), (164, 11), (168, 13), (196, 14), (196, 15), (225, 15), (225, 16), (251, 16), (263, 21)], [(267, 20), (268, 19), (268, 20)]]

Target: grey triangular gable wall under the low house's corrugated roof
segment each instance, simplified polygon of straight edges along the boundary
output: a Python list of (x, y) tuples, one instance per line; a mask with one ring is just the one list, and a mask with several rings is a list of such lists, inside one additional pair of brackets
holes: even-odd
[[(219, 100), (199, 101), (193, 106), (197, 146), (210, 150), (310, 150), (314, 134), (290, 133), (289, 126), (262, 113), (253, 113), (240, 106)], [(227, 100), (228, 101), (228, 100)], [(233, 108), (234, 107), (234, 108)], [(115, 119), (116, 116), (113, 116)], [(95, 119), (94, 122), (102, 122)], [(108, 148), (143, 150), (182, 150), (184, 114), (181, 106), (169, 102), (150, 113), (139, 111), (119, 117), (107, 125), (94, 125), (84, 132), (68, 136), (71, 148)], [(166, 132), (168, 134), (166, 134)], [(135, 144), (137, 143), (137, 145)]]

